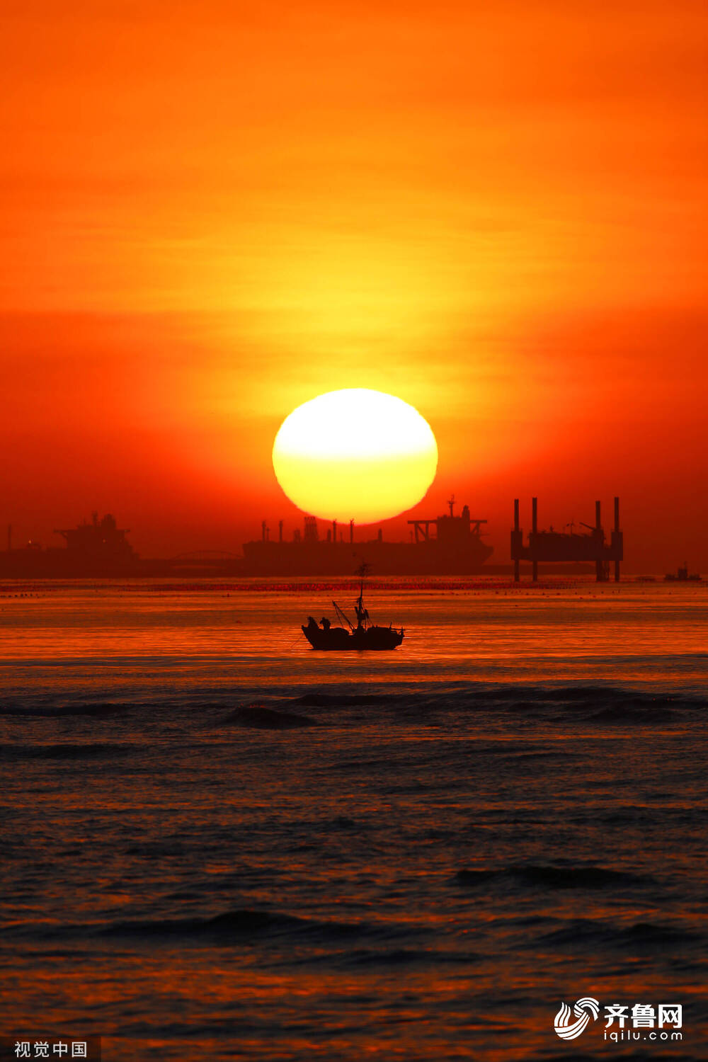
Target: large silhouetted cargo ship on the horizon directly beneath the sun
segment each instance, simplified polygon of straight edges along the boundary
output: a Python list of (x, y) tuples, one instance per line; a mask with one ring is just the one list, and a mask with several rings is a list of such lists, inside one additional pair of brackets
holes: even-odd
[(260, 539), (243, 544), (243, 573), (350, 576), (357, 566), (367, 564), (377, 576), (476, 575), (494, 552), (482, 537), (486, 520), (472, 518), (468, 506), (455, 516), (454, 496), (448, 507), (449, 513), (434, 519), (409, 520), (410, 542), (387, 542), (381, 529), (375, 538), (360, 541), (353, 521), (344, 531), (333, 521), (321, 538), (314, 516), (306, 516), (304, 531), (297, 529), (289, 541), (280, 521), (273, 539), (263, 520)]

